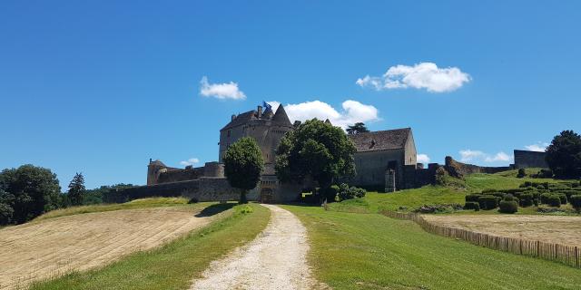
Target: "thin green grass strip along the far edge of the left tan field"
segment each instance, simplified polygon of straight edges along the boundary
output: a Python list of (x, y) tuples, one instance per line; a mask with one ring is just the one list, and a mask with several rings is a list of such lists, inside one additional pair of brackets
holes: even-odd
[[(158, 207), (172, 207), (172, 206), (184, 206), (188, 204), (187, 198), (143, 198), (135, 199), (125, 203), (116, 204), (103, 204), (103, 205), (92, 205), (92, 206), (81, 206), (81, 207), (71, 207), (62, 208), (49, 211), (44, 215), (34, 218), (33, 222), (40, 221), (46, 218), (58, 218), (64, 216), (72, 216), (78, 214), (86, 214), (90, 212), (102, 212), (102, 211), (112, 211), (120, 209), (133, 209), (133, 208), (158, 208)], [(210, 203), (195, 204), (196, 207), (200, 205), (206, 206)]]

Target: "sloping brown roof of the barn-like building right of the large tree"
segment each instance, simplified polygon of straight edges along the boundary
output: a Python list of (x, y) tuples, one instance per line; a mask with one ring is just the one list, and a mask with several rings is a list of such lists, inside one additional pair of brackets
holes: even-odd
[(358, 152), (403, 149), (411, 128), (373, 131), (349, 135)]

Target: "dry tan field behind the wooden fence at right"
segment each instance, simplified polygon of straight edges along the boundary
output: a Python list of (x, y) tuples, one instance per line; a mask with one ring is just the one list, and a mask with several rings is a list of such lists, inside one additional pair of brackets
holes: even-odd
[(500, 237), (581, 246), (581, 217), (510, 215), (424, 215), (429, 222)]

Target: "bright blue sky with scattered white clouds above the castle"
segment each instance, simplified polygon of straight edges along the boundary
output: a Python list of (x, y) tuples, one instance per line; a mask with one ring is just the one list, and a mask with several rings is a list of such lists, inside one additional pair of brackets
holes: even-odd
[[(432, 162), (507, 165), (499, 153), (581, 131), (579, 11), (578, 1), (2, 1), (0, 168), (43, 166), (63, 186), (77, 171), (88, 188), (143, 184), (150, 158), (217, 160), (231, 114), (263, 100), (371, 130), (411, 127)], [(367, 75), (379, 90), (356, 83)]]

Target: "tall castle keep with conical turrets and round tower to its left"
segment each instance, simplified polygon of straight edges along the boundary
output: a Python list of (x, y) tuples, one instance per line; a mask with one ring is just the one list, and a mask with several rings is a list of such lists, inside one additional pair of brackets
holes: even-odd
[(185, 169), (177, 169), (166, 166), (160, 160), (150, 160), (147, 169), (147, 187), (149, 188), (141, 187), (143, 189), (139, 190), (151, 191), (152, 187), (160, 192), (164, 189), (175, 190), (175, 183), (179, 183), (182, 195), (197, 198), (200, 201), (237, 199), (237, 190), (229, 188), (224, 176), (222, 159), (231, 144), (243, 137), (251, 137), (261, 148), (265, 164), (259, 185), (248, 194), (249, 200), (261, 202), (294, 200), (300, 194), (300, 186), (281, 183), (274, 171), (275, 150), (282, 136), (291, 130), (293, 130), (291, 121), (282, 105), (276, 112), (271, 111), (270, 108), (262, 111), (262, 107), (258, 106), (255, 111), (232, 115), (231, 121), (220, 131), (218, 162), (207, 162), (199, 168), (188, 166)]

